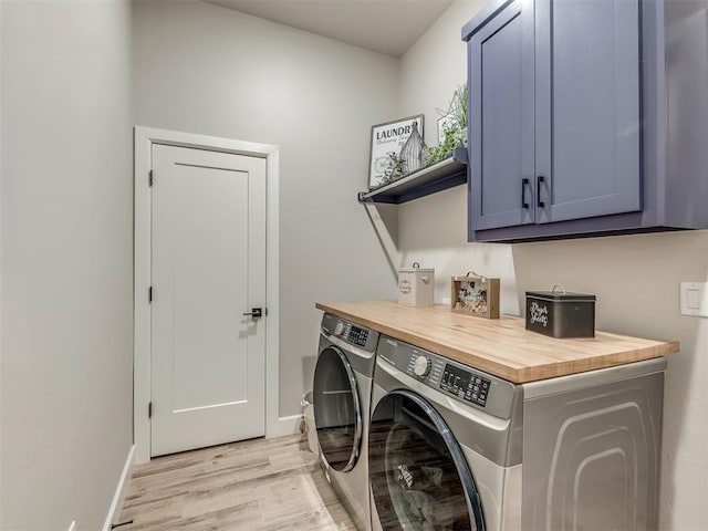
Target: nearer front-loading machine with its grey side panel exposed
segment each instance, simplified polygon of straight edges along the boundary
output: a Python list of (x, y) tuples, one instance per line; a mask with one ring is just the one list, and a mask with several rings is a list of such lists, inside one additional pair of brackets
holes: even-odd
[(665, 368), (513, 384), (382, 335), (373, 529), (657, 529)]

